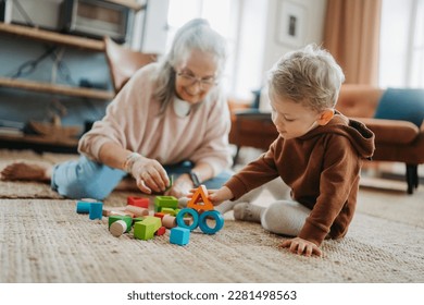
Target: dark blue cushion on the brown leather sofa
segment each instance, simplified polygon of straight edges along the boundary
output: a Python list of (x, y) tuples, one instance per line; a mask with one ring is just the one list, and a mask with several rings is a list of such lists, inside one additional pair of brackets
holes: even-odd
[(424, 89), (387, 88), (374, 117), (410, 121), (420, 127), (424, 120)]

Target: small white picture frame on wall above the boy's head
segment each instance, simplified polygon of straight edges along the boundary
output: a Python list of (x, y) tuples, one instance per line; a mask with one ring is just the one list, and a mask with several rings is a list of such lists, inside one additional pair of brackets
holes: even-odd
[(277, 41), (292, 48), (304, 44), (307, 9), (294, 1), (280, 0), (277, 9)]

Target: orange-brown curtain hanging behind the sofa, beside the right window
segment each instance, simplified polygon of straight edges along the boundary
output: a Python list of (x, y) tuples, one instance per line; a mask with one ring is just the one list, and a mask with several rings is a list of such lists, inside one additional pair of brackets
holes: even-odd
[(328, 0), (324, 47), (346, 74), (346, 83), (378, 85), (382, 0)]

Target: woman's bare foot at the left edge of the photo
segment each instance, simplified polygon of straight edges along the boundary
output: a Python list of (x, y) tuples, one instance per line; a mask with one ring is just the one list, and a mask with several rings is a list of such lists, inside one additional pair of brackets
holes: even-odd
[(45, 181), (48, 182), (51, 179), (51, 164), (39, 164), (28, 162), (14, 162), (7, 166), (1, 171), (1, 180), (30, 180), (30, 181)]

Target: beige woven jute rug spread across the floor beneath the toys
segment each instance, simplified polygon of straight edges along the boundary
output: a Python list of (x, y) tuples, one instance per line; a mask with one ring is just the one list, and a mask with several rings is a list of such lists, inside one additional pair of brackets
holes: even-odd
[[(114, 192), (104, 205), (123, 206), (128, 195)], [(260, 197), (271, 200), (266, 192)], [(47, 184), (0, 182), (0, 282), (423, 283), (423, 185), (412, 196), (361, 187), (348, 235), (325, 241), (323, 258), (307, 258), (279, 248), (285, 236), (235, 221), (232, 212), (220, 232), (194, 231), (186, 246), (171, 244), (169, 231), (150, 241), (114, 237), (107, 218), (76, 213), (76, 202)]]

